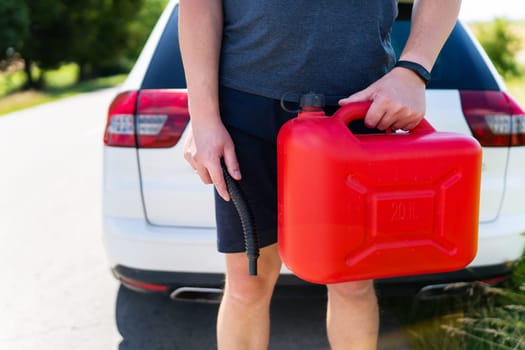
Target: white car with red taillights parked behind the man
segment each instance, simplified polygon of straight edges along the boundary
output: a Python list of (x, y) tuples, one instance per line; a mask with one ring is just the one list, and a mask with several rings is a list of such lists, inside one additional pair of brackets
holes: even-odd
[[(410, 4), (399, 4), (392, 32), (398, 52), (410, 12)], [(183, 158), (189, 116), (177, 25), (171, 1), (109, 109), (103, 175), (103, 234), (115, 276), (133, 289), (175, 296), (220, 288), (224, 273), (212, 187)], [(473, 135), (483, 146), (477, 256), (461, 271), (377, 283), (503, 278), (525, 246), (525, 112), (460, 22), (432, 71), (426, 118), (437, 130)], [(283, 268), (279, 284), (301, 283)]]

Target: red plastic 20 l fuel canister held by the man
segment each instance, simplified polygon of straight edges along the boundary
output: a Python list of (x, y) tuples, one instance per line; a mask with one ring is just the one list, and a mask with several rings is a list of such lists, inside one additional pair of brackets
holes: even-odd
[(465, 267), (477, 249), (479, 143), (426, 120), (409, 133), (353, 134), (369, 107), (303, 110), (281, 128), (283, 262), (323, 284)]

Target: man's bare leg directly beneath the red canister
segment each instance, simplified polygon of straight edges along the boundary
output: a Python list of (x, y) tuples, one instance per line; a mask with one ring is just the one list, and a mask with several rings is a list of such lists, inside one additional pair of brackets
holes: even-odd
[(332, 350), (377, 348), (379, 311), (372, 281), (331, 284), (327, 332)]

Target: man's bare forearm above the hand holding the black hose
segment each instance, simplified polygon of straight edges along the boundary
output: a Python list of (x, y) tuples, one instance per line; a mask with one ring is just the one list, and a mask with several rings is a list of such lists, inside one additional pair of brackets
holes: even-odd
[(192, 123), (219, 118), (222, 26), (221, 0), (180, 1), (179, 41)]

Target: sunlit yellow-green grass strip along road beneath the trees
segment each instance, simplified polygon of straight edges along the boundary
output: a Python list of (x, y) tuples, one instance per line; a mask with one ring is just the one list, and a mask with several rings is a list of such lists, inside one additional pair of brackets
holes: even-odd
[(44, 74), (46, 85), (44, 90), (18, 91), (25, 83), (23, 72), (0, 74), (0, 116), (79, 93), (116, 86), (126, 79), (126, 74), (80, 83), (76, 83), (77, 77), (78, 66), (67, 64)]

